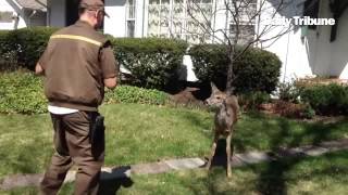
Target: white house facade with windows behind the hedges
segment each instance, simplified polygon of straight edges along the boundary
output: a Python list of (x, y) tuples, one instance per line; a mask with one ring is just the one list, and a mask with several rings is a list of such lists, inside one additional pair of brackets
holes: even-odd
[[(226, 34), (234, 35), (236, 25), (226, 12), (225, 1), (195, 0), (195, 5), (189, 2), (192, 1), (104, 0), (110, 17), (105, 17), (103, 30), (114, 37), (181, 38), (191, 43), (214, 43), (224, 40)], [(239, 43), (260, 38), (253, 46), (275, 53), (283, 62), (281, 80), (306, 76), (348, 79), (347, 0), (284, 0), (287, 5), (282, 10), (277, 10), (279, 0), (248, 2), (247, 10), (254, 11), (262, 5), (269, 11), (262, 9), (258, 17), (239, 22)], [(78, 17), (77, 5), (78, 0), (48, 0), (47, 25), (73, 24)], [(192, 16), (201, 22), (201, 26)], [(316, 26), (270, 23), (270, 18), (282, 21), (302, 16), (334, 18), (336, 23)], [(259, 37), (268, 26), (272, 26), (272, 30)], [(211, 27), (214, 36), (203, 35), (202, 27)], [(284, 28), (290, 30), (281, 34)], [(184, 63), (191, 67), (189, 57), (186, 56)]]

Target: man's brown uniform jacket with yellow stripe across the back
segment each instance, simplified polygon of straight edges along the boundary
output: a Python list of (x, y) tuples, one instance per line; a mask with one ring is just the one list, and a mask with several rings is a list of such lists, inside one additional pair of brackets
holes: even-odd
[(97, 110), (119, 69), (110, 42), (83, 21), (53, 34), (39, 64), (50, 105), (79, 110)]

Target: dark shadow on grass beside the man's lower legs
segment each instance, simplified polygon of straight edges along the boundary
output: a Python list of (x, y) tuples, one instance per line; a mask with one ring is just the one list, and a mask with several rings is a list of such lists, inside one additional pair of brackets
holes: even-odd
[(127, 177), (126, 172), (130, 166), (112, 169), (111, 172), (101, 172), (101, 181), (98, 194), (114, 195), (121, 187), (130, 187), (134, 182)]

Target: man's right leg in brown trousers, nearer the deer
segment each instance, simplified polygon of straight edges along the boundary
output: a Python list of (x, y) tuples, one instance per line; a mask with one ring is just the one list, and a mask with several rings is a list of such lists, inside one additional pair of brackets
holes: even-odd
[(96, 159), (91, 153), (89, 140), (90, 121), (90, 117), (85, 112), (78, 112), (64, 117), (64, 123), (67, 127), (67, 147), (73, 161), (78, 168), (75, 181), (76, 195), (97, 194), (99, 188), (103, 156)]

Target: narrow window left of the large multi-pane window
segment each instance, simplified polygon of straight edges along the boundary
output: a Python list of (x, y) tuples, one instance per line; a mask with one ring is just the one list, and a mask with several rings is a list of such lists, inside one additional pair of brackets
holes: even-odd
[(136, 0), (126, 1), (126, 36), (135, 37)]

